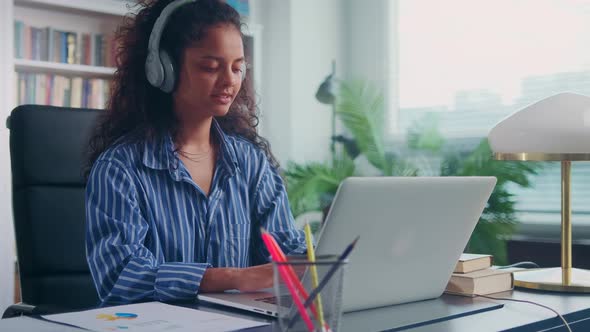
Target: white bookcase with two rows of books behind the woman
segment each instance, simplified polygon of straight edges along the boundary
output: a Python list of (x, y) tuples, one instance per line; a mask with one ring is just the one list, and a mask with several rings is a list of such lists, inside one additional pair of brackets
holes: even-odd
[(15, 104), (104, 108), (115, 72), (114, 29), (126, 13), (124, 2), (14, 4)]

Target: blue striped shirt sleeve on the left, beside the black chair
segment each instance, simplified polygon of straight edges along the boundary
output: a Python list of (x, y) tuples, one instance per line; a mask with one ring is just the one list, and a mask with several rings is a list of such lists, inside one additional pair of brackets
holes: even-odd
[(86, 187), (86, 257), (103, 303), (194, 299), (204, 263), (158, 262), (126, 168), (97, 161)]

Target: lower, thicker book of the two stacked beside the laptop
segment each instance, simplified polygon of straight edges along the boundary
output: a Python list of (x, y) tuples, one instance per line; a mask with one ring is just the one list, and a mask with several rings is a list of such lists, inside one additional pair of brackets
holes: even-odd
[(508, 291), (514, 288), (510, 271), (485, 269), (469, 273), (453, 273), (445, 292), (476, 296)]

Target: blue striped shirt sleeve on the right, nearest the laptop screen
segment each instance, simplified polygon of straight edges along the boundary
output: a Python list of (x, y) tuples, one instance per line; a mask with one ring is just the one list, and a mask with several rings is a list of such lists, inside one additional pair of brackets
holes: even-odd
[[(258, 224), (276, 239), (285, 254), (305, 254), (305, 234), (295, 228), (283, 179), (266, 156), (261, 159), (260, 176), (254, 195), (254, 211)], [(258, 229), (255, 229), (254, 234), (257, 240), (254, 263), (266, 263), (269, 261), (269, 253), (260, 240)]]

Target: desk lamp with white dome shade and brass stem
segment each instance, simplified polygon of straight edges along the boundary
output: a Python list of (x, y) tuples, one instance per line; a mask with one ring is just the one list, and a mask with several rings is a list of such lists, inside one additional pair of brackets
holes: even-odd
[[(590, 161), (590, 97), (560, 93), (510, 115), (488, 135), (496, 160), (561, 162), (561, 267), (514, 273), (514, 285), (590, 293), (590, 271), (572, 268), (572, 161)], [(590, 201), (588, 202), (590, 204)]]

